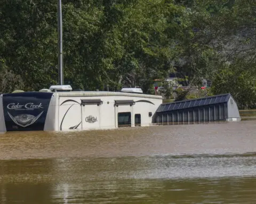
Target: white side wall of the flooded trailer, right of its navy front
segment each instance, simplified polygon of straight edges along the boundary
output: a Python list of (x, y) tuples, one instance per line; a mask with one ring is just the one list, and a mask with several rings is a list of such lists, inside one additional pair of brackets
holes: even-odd
[[(102, 101), (102, 103), (87, 102), (81, 105), (81, 100)], [(115, 101), (134, 101), (134, 104), (115, 104)], [(59, 100), (59, 130), (89, 130), (118, 128), (118, 114), (130, 114), (130, 126), (140, 121), (141, 126), (152, 123), (152, 117), (162, 99), (132, 97), (132, 96), (95, 96), (66, 97)], [(151, 114), (150, 114), (151, 113)], [(136, 117), (136, 121), (135, 121)], [(121, 119), (120, 119), (121, 118)], [(120, 123), (120, 122), (119, 122)], [(129, 124), (129, 122), (127, 123)]]

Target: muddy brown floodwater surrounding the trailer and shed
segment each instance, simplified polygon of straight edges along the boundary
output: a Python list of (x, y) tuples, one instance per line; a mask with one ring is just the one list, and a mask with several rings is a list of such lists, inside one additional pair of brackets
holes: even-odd
[(256, 121), (3, 133), (0, 203), (256, 203)]

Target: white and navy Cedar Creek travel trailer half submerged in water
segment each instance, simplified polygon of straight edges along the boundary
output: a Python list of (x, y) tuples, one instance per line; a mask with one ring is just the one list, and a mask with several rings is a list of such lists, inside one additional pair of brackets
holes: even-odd
[(162, 97), (141, 94), (141, 89), (121, 92), (71, 91), (52, 86), (38, 92), (3, 94), (0, 131), (68, 131), (149, 126)]

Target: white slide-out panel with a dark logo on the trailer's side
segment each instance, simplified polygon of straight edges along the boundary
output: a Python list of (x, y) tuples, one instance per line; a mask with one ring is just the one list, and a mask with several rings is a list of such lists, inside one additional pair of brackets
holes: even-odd
[(81, 99), (82, 129), (100, 128), (100, 99)]

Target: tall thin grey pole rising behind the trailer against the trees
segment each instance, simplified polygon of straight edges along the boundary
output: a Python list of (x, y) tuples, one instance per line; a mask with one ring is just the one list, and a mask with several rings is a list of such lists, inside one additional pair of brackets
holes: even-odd
[(58, 71), (59, 84), (63, 85), (63, 57), (62, 57), (62, 12), (61, 0), (58, 0)]

